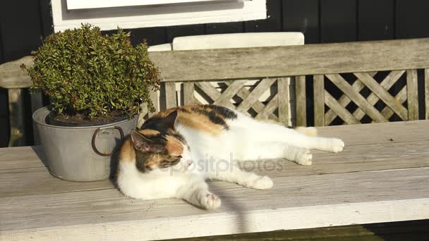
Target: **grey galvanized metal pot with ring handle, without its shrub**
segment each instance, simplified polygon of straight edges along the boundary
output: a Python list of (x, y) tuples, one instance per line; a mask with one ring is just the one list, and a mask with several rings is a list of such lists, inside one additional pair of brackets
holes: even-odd
[(69, 127), (50, 125), (47, 107), (33, 113), (49, 172), (56, 178), (95, 181), (109, 178), (115, 152), (135, 128), (138, 116), (108, 125)]

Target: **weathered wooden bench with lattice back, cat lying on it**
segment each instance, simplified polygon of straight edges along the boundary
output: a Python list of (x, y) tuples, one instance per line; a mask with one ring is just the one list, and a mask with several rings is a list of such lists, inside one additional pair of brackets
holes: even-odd
[[(413, 121), (419, 107), (429, 116), (428, 50), (429, 39), (409, 39), (152, 52), (164, 89), (152, 99), (166, 103), (158, 109), (181, 103), (174, 87), (183, 82), (186, 104), (200, 94), (285, 124), (286, 113), (296, 111), (297, 124), (306, 125), (307, 83), (314, 89), (315, 125), (339, 118), (374, 123), (318, 128), (320, 135), (342, 138), (346, 148), (314, 152), (313, 166), (283, 159), (243, 164), (270, 175), (272, 190), (210, 182), (223, 200), (217, 211), (178, 199), (129, 199), (109, 180), (58, 180), (43, 165), (40, 147), (0, 149), (0, 240), (156, 240), (429, 218), (429, 121)], [(289, 77), (296, 82), (296, 110), (286, 105)], [(249, 89), (243, 80), (257, 81)], [(228, 87), (219, 92), (210, 81)], [(272, 97), (258, 101), (276, 82)], [(420, 105), (418, 84), (425, 89)], [(392, 116), (404, 122), (388, 123)]]

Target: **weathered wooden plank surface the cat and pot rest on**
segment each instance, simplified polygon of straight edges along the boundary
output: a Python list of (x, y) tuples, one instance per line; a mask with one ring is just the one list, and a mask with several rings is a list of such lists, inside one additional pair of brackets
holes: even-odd
[(318, 130), (342, 138), (344, 151), (313, 151), (313, 166), (255, 163), (272, 190), (210, 182), (217, 211), (130, 199), (109, 180), (59, 180), (39, 147), (0, 149), (0, 240), (157, 240), (429, 218), (429, 121)]

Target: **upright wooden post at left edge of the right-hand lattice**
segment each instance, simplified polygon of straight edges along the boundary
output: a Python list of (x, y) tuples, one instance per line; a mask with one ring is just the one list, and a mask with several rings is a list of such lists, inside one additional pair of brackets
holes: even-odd
[[(325, 75), (314, 75), (314, 125), (325, 125)], [(330, 122), (329, 122), (330, 123)]]

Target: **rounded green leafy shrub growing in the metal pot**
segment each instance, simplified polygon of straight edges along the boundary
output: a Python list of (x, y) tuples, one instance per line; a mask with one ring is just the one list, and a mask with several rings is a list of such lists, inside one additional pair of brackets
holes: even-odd
[(154, 111), (150, 90), (159, 88), (158, 69), (147, 56), (145, 41), (133, 47), (130, 33), (103, 36), (99, 27), (82, 25), (50, 35), (26, 67), (32, 89), (49, 97), (54, 113), (95, 118), (116, 111), (133, 116), (146, 103)]

